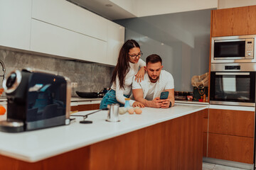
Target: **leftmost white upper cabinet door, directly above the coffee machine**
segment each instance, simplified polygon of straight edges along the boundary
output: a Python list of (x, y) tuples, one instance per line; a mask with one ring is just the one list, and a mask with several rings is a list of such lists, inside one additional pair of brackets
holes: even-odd
[(29, 50), (31, 0), (0, 0), (0, 45)]

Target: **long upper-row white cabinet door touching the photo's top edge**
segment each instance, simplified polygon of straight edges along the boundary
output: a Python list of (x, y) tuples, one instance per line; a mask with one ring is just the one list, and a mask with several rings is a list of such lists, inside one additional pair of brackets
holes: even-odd
[(107, 19), (65, 0), (33, 0), (32, 18), (107, 40)]

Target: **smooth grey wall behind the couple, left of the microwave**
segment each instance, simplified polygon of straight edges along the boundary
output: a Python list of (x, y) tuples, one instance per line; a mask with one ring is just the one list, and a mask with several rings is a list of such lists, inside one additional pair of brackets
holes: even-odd
[(126, 28), (126, 40), (139, 42), (142, 60), (153, 53), (161, 56), (176, 91), (193, 91), (191, 78), (208, 72), (210, 9), (115, 22)]

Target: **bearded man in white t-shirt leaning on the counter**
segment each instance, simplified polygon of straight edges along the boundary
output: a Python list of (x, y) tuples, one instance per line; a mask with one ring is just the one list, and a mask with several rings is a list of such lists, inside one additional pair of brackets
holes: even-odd
[[(132, 94), (136, 101), (151, 108), (170, 108), (174, 106), (174, 78), (169, 72), (161, 70), (159, 55), (146, 57), (146, 74), (141, 82), (132, 82)], [(169, 91), (167, 99), (160, 99), (162, 91)]]

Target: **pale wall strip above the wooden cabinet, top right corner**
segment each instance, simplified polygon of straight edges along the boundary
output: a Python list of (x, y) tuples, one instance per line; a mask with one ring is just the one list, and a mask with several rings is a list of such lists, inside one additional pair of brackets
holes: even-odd
[(256, 5), (255, 0), (218, 0), (218, 9)]

